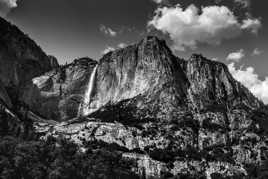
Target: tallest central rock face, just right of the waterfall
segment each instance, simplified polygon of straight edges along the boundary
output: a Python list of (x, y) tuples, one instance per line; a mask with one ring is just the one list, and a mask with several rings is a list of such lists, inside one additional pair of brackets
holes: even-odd
[(129, 111), (144, 112), (144, 118), (169, 118), (184, 108), (187, 88), (186, 76), (166, 43), (147, 37), (100, 60), (89, 107), (94, 112), (129, 102), (124, 104)]

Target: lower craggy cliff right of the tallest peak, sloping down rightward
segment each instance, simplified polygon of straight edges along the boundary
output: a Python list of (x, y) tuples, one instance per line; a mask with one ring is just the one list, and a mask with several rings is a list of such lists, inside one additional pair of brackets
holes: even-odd
[(213, 105), (246, 105), (258, 108), (261, 103), (239, 82), (234, 80), (226, 65), (194, 54), (182, 68), (190, 82), (188, 96), (196, 109)]

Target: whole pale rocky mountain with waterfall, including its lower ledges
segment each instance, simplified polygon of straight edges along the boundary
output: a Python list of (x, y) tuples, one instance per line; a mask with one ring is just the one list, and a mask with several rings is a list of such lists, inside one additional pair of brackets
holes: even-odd
[(263, 103), (224, 64), (197, 54), (179, 59), (156, 37), (99, 62), (76, 60), (33, 83), (24, 101), (46, 118), (64, 120), (35, 122), (42, 138), (118, 145), (147, 178), (254, 178), (267, 160)]

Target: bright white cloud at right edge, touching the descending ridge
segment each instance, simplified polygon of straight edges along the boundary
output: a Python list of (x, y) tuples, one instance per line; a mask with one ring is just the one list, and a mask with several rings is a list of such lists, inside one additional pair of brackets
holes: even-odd
[(237, 81), (241, 82), (265, 104), (268, 104), (268, 77), (261, 80), (253, 67), (236, 68), (234, 62), (230, 63), (228, 68)]

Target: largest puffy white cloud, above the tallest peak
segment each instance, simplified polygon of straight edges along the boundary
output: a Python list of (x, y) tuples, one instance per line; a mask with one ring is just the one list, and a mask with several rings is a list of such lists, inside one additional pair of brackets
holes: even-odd
[(258, 19), (245, 19), (242, 22), (226, 6), (207, 6), (201, 10), (195, 5), (183, 9), (159, 7), (148, 22), (149, 27), (168, 34), (175, 50), (186, 47), (196, 48), (198, 43), (219, 45), (223, 39), (238, 36), (243, 30), (256, 33), (260, 28)]

